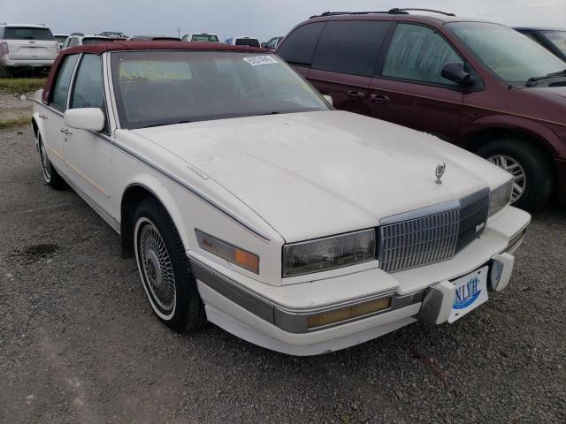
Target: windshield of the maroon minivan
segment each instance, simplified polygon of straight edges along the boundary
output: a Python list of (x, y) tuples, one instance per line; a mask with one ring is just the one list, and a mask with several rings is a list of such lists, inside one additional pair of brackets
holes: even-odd
[(453, 22), (447, 27), (506, 82), (525, 84), (530, 78), (566, 69), (558, 57), (509, 27), (482, 22)]

